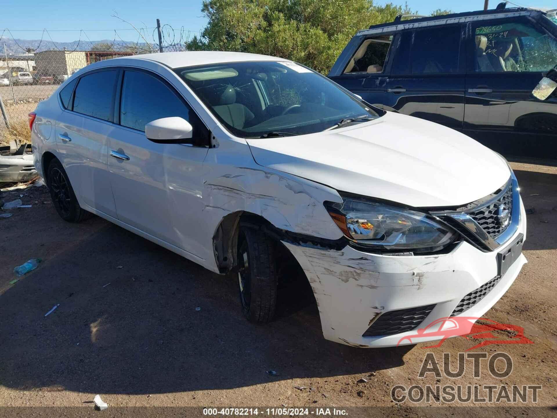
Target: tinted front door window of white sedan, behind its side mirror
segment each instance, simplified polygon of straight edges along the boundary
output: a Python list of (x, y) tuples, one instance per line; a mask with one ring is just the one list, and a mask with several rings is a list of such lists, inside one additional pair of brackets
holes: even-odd
[(171, 116), (189, 121), (189, 108), (162, 81), (144, 72), (124, 73), (120, 125), (145, 131), (149, 122)]

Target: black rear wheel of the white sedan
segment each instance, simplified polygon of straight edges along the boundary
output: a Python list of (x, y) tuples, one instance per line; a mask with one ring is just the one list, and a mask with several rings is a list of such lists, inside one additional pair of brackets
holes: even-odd
[(63, 220), (81, 222), (90, 217), (91, 212), (87, 212), (79, 206), (70, 179), (57, 159), (53, 159), (48, 165), (47, 180), (52, 203)]

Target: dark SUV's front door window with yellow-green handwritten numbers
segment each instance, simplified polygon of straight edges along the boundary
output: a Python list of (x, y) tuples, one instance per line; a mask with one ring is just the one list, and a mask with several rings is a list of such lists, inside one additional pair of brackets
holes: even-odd
[(557, 41), (529, 21), (473, 26), (478, 72), (544, 72), (557, 64)]

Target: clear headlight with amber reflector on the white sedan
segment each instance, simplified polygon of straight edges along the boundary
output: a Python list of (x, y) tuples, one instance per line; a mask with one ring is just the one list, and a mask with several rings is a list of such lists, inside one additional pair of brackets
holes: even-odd
[(432, 252), (457, 236), (426, 213), (354, 198), (325, 202), (325, 207), (349, 240), (378, 249)]

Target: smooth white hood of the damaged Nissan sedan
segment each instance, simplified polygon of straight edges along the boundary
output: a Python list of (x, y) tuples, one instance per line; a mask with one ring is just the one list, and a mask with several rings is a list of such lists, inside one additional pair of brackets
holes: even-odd
[(414, 207), (465, 205), (510, 177), (499, 155), (466, 135), (390, 112), (328, 132), (247, 142), (260, 166)]

